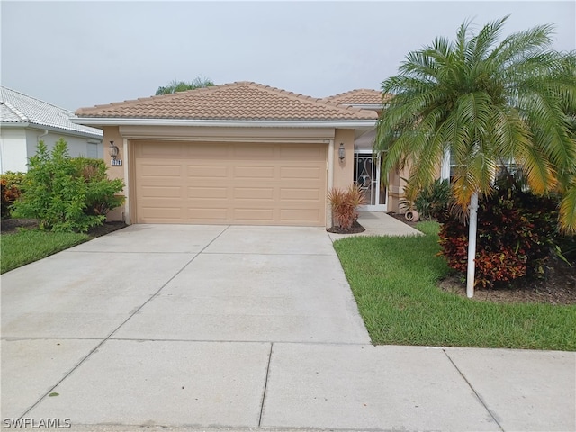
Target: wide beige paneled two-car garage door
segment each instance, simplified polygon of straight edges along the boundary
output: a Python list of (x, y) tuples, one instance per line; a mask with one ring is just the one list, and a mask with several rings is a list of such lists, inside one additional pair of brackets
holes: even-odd
[(327, 145), (132, 146), (137, 223), (325, 225)]

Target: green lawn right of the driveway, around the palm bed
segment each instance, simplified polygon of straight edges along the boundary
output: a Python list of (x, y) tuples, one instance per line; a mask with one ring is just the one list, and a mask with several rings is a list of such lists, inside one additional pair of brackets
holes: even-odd
[(409, 238), (353, 237), (334, 243), (374, 344), (576, 350), (576, 305), (498, 304), (437, 288), (438, 226)]

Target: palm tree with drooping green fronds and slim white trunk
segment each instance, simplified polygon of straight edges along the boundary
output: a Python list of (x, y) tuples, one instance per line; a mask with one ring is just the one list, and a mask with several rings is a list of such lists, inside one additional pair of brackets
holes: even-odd
[(446, 154), (455, 162), (456, 202), (470, 206), (467, 294), (473, 296), (478, 196), (493, 190), (496, 167), (514, 160), (535, 193), (563, 193), (560, 225), (576, 230), (576, 52), (550, 49), (553, 27), (500, 41), (508, 16), (477, 34), (464, 23), (454, 41), (437, 38), (410, 52), (399, 75), (383, 82), (374, 150), (383, 178), (409, 170), (407, 197), (437, 177)]

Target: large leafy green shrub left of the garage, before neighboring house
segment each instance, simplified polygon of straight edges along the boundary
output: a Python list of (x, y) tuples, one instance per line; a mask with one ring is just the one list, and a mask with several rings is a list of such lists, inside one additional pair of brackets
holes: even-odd
[(123, 182), (109, 180), (103, 164), (87, 160), (71, 158), (64, 139), (59, 139), (51, 152), (40, 141), (28, 164), (26, 193), (14, 202), (14, 210), (38, 219), (40, 229), (85, 232), (101, 225), (105, 212), (121, 205), (115, 195), (121, 192)]

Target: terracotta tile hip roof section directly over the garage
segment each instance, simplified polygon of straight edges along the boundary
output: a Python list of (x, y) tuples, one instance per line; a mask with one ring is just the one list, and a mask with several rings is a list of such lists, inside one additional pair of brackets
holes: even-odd
[(237, 121), (377, 119), (373, 111), (342, 107), (337, 103), (246, 81), (80, 108), (76, 115), (80, 118)]

